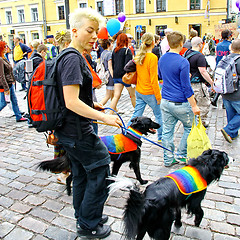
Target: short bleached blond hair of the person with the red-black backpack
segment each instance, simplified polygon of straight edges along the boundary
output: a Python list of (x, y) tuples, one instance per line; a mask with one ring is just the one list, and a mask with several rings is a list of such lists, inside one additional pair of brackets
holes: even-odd
[(77, 8), (73, 13), (69, 15), (69, 23), (71, 30), (73, 28), (79, 29), (84, 19), (89, 19), (95, 22), (98, 22), (100, 26), (104, 25), (105, 18), (92, 8)]

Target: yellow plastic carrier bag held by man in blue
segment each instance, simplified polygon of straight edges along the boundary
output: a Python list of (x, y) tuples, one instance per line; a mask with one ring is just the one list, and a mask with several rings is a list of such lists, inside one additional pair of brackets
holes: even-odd
[(198, 125), (196, 125), (194, 116), (192, 129), (187, 139), (187, 156), (189, 158), (197, 158), (205, 150), (211, 148), (211, 142), (206, 134), (206, 128), (202, 124), (201, 117), (199, 116)]

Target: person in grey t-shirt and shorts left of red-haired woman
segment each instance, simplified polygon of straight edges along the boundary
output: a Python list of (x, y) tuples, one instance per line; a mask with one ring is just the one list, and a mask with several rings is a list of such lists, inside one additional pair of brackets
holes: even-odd
[(106, 71), (109, 71), (109, 78), (106, 84), (106, 95), (100, 102), (102, 105), (105, 105), (109, 99), (113, 98), (114, 93), (114, 82), (113, 82), (113, 69), (112, 69), (112, 49), (113, 41), (110, 39), (103, 39), (101, 46), (104, 51), (101, 54), (101, 61), (103, 62), (104, 68)]

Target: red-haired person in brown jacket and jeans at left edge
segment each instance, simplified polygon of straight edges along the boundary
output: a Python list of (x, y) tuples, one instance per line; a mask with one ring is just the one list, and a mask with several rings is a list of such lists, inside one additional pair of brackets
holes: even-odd
[(18, 107), (17, 97), (14, 90), (16, 80), (13, 76), (12, 65), (4, 56), (6, 52), (7, 43), (0, 41), (0, 111), (7, 106), (7, 100), (9, 99), (12, 103), (12, 110), (15, 114), (16, 121), (27, 121), (28, 119), (22, 116)]

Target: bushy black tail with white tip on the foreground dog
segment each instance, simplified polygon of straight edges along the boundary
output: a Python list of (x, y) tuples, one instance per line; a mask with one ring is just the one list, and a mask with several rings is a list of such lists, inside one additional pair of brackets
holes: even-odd
[(130, 179), (110, 177), (110, 180), (115, 181), (110, 184), (110, 195), (118, 189), (130, 191), (127, 204), (125, 206), (123, 221), (124, 221), (124, 235), (127, 239), (135, 239), (139, 230), (139, 224), (145, 213), (144, 203), (145, 197), (139, 188)]

